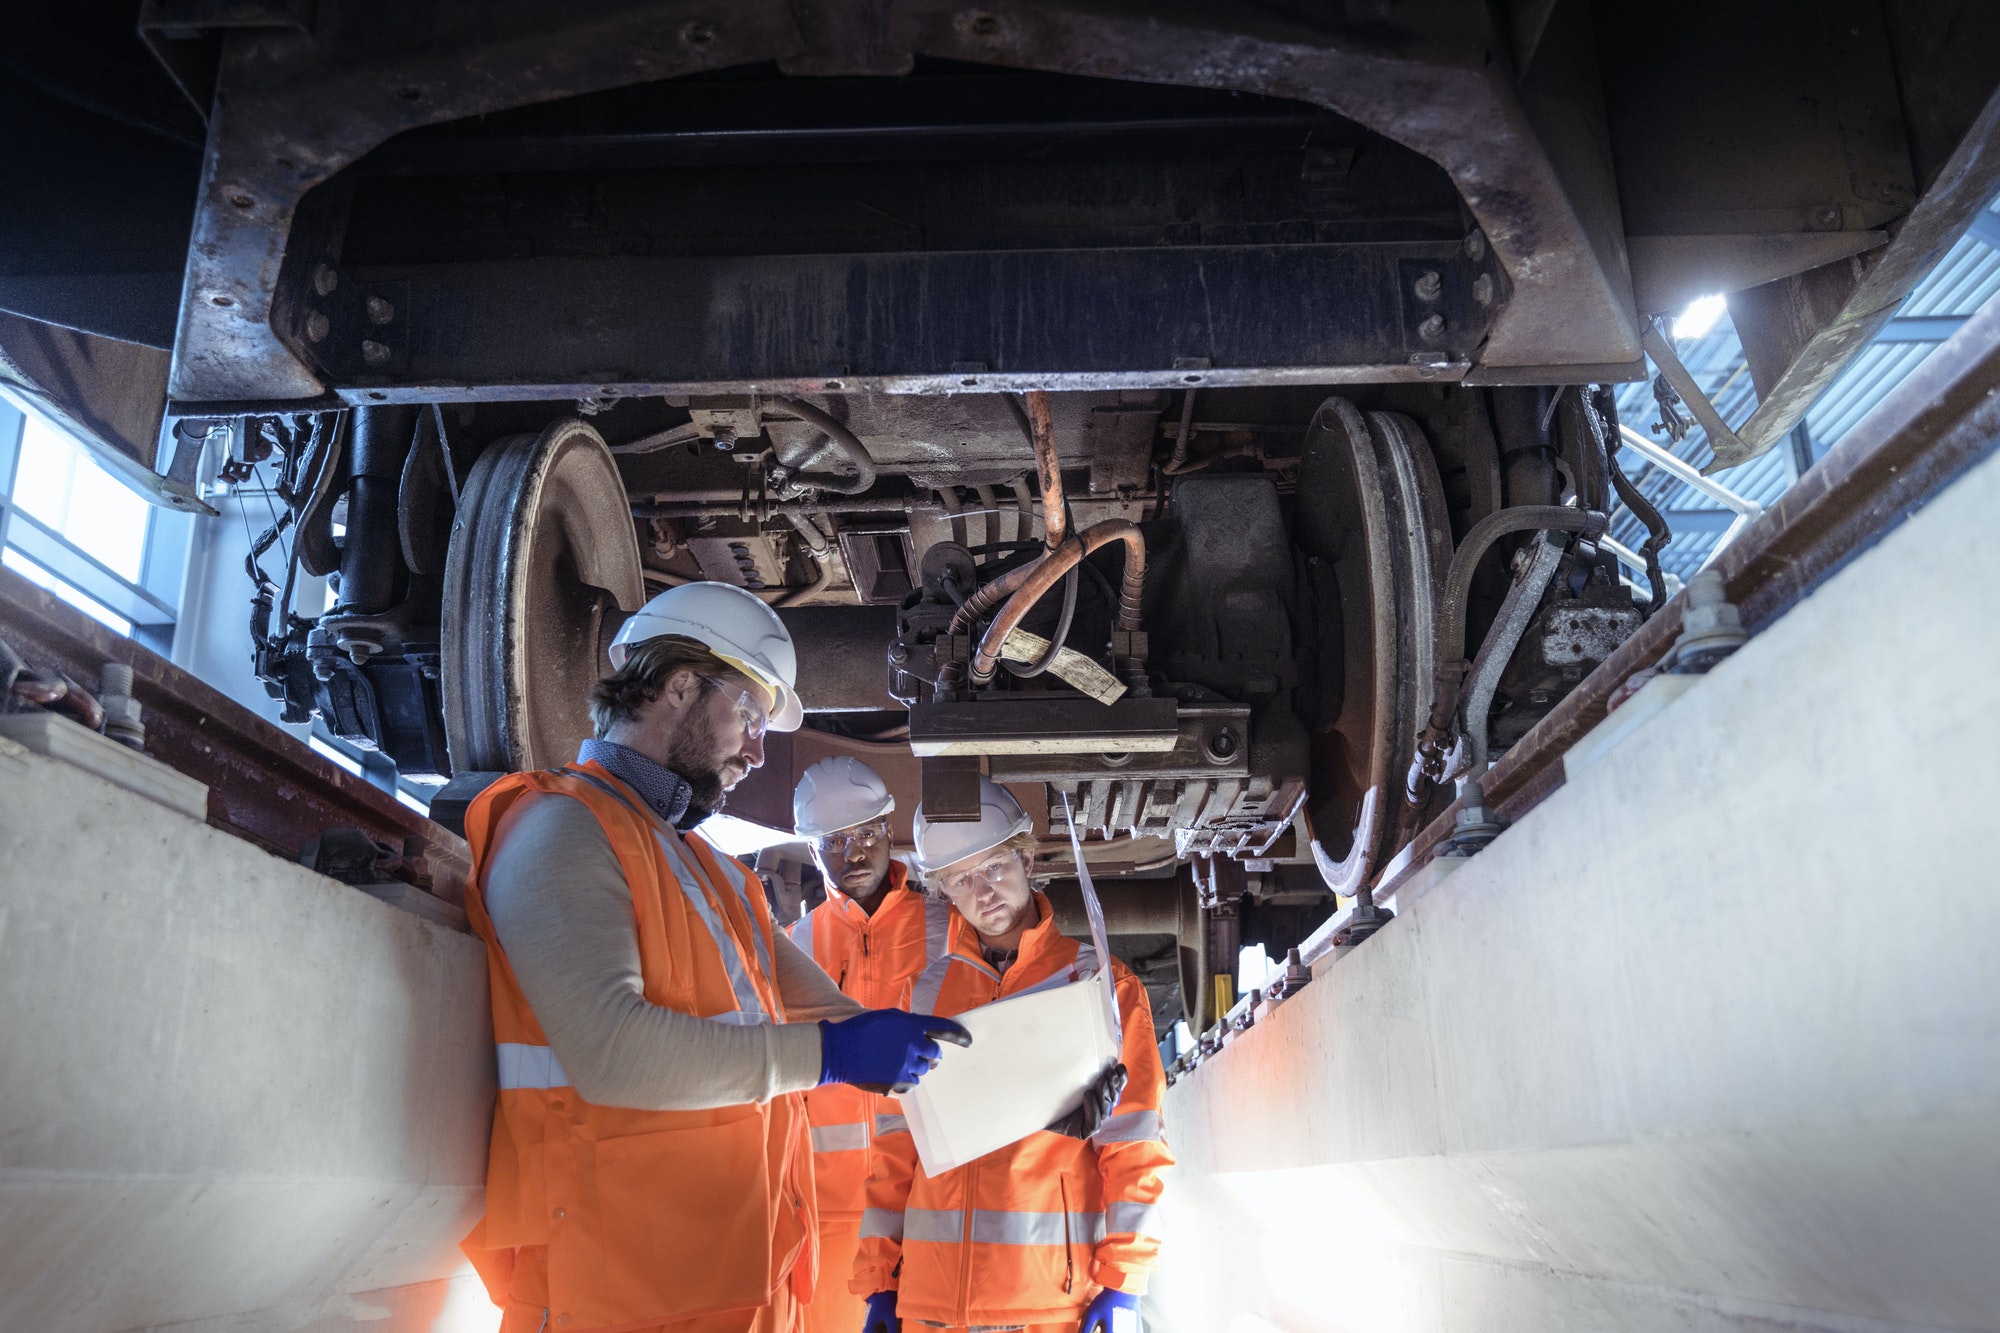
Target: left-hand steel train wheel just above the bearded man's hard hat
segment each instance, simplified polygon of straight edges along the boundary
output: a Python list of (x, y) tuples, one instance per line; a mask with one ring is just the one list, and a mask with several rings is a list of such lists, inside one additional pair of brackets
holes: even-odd
[(604, 648), (644, 598), (624, 482), (596, 430), (558, 420), (480, 454), (444, 564), (452, 769), (574, 759)]

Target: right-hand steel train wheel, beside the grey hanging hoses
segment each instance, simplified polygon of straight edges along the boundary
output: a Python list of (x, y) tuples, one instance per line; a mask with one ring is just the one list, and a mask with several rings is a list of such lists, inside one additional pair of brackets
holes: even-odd
[(1452, 554), (1444, 486), (1416, 422), (1322, 402), (1300, 462), (1296, 536), (1320, 618), (1306, 821), (1326, 885), (1352, 895), (1410, 825), (1402, 775), (1430, 709)]

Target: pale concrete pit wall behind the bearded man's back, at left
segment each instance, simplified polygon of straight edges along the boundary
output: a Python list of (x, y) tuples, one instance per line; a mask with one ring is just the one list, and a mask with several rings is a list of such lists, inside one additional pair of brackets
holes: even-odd
[(0, 741), (0, 1327), (478, 1329), (484, 951)]

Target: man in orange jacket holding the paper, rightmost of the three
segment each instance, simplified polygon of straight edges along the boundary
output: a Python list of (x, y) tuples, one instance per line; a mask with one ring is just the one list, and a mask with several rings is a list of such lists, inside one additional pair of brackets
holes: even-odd
[(898, 1317), (904, 1327), (1138, 1333), (1138, 1297), (1160, 1257), (1162, 1171), (1174, 1165), (1152, 1005), (1128, 967), (1056, 929), (1030, 879), (1032, 855), (1034, 821), (988, 779), (976, 823), (932, 823), (918, 809), (918, 865), (950, 911), (910, 1007), (958, 1015), (1108, 965), (1124, 1063), (1064, 1123), (940, 1177), (924, 1173), (908, 1129), (876, 1137), (852, 1283), (868, 1295), (864, 1333), (896, 1333)]

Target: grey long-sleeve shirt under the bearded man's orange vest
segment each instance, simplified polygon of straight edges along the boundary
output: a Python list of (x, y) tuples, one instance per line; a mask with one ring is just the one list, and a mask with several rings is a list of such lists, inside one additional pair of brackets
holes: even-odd
[(738, 1027), (646, 1001), (632, 891), (596, 817), (526, 797), (494, 835), (486, 913), (578, 1097), (640, 1111), (770, 1101), (820, 1081), (820, 1019), (862, 1007), (782, 933), (772, 967), (792, 1023)]

